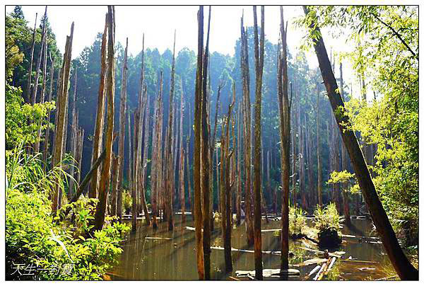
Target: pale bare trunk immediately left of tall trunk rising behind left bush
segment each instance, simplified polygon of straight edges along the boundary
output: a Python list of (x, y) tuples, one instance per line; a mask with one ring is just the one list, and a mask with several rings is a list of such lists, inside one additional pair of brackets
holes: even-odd
[[(103, 30), (102, 35), (102, 48), (101, 48), (101, 59), (100, 59), (100, 84), (98, 91), (98, 109), (95, 117), (95, 132), (93, 138), (93, 162), (95, 162), (102, 150), (102, 141), (103, 141), (103, 124), (105, 117), (105, 98), (106, 98), (106, 74), (107, 74), (107, 16), (105, 21), (105, 29)], [(93, 167), (93, 165), (92, 165)], [(90, 198), (97, 198), (98, 185), (100, 179), (100, 170), (95, 171), (93, 178), (90, 182), (90, 193), (88, 196)], [(119, 217), (120, 219), (121, 217)]]

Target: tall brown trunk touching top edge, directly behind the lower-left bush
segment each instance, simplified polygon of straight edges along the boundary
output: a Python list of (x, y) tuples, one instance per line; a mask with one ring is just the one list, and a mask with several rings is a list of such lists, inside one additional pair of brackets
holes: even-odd
[[(106, 132), (106, 158), (102, 165), (99, 183), (99, 202), (95, 210), (95, 229), (100, 230), (105, 222), (107, 202), (107, 182), (110, 181), (110, 164), (112, 159), (112, 132), (114, 127), (114, 6), (107, 6), (107, 132)], [(100, 78), (101, 81), (101, 78)]]

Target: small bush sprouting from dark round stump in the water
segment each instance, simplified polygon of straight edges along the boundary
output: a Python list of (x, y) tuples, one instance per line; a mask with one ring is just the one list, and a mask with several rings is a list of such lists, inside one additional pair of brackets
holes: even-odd
[(341, 235), (338, 233), (340, 216), (336, 205), (330, 203), (324, 209), (318, 206), (314, 216), (314, 224), (318, 229), (319, 246), (332, 247), (341, 244)]

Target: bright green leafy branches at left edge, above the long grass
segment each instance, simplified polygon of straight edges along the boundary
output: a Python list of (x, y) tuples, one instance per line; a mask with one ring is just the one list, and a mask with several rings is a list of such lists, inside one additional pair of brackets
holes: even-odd
[[(41, 121), (46, 121), (48, 110), (54, 109), (54, 103), (24, 104), (20, 88), (6, 84), (6, 149), (11, 149), (19, 142), (33, 144)], [(43, 122), (41, 129), (47, 128)]]

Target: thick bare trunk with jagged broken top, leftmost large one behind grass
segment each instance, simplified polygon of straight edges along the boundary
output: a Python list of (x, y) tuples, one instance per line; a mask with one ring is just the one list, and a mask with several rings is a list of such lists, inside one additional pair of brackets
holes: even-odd
[[(66, 36), (66, 45), (64, 53), (64, 62), (62, 64), (62, 71), (59, 80), (59, 90), (57, 91), (58, 101), (58, 112), (57, 112), (57, 134), (54, 141), (54, 161), (53, 166), (60, 166), (63, 155), (63, 142), (64, 142), (64, 129), (65, 129), (65, 118), (67, 117), (66, 104), (68, 102), (68, 83), (69, 83), (69, 69), (71, 68), (71, 54), (72, 54), (72, 40), (73, 40), (73, 23), (71, 25), (71, 34)], [(56, 211), (60, 207), (59, 201), (59, 185), (56, 186), (52, 195), (52, 213), (56, 214)]]

